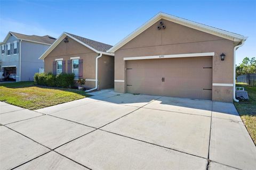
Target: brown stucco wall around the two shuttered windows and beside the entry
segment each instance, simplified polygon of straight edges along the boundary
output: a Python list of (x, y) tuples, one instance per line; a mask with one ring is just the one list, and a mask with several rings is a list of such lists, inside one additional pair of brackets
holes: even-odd
[[(93, 50), (85, 47), (84, 45), (77, 43), (75, 40), (68, 38), (69, 42), (61, 43), (55, 47), (52, 52), (44, 58), (45, 72), (53, 72), (53, 61), (58, 58), (63, 58), (66, 61), (66, 72), (68, 70), (67, 61), (70, 57), (80, 57), (83, 59), (83, 78), (95, 80), (95, 59), (99, 54), (95, 53)], [(102, 55), (98, 63), (99, 71), (99, 87), (103, 88), (113, 88), (114, 87), (114, 57)], [(113, 79), (112, 87), (109, 80)], [(85, 86), (88, 88), (95, 87), (95, 81), (87, 80)]]

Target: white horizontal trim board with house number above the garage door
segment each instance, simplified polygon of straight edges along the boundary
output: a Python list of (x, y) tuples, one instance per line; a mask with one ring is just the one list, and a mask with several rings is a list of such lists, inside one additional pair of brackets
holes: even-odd
[(214, 56), (214, 52), (211, 53), (190, 53), (190, 54), (171, 54), (171, 55), (154, 55), (154, 56), (142, 56), (142, 57), (124, 57), (126, 60), (146, 60), (146, 59), (162, 59), (162, 58), (180, 58), (180, 57), (203, 57)]

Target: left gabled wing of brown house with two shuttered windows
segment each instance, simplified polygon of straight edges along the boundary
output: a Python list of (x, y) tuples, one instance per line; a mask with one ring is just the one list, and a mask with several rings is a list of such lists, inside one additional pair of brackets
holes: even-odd
[(40, 57), (46, 73), (74, 73), (75, 79), (85, 79), (85, 87), (106, 89), (114, 87), (114, 54), (106, 51), (112, 46), (63, 32)]

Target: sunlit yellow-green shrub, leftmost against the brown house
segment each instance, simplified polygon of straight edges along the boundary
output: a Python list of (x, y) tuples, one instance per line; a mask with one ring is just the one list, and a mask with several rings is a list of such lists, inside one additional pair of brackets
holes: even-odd
[(55, 86), (55, 76), (52, 73), (35, 73), (34, 82), (40, 86)]

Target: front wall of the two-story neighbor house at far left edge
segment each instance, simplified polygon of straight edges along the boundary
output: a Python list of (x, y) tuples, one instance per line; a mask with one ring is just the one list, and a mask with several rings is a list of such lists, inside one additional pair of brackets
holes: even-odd
[[(15, 38), (14, 36), (10, 36), (9, 39), (7, 39), (6, 44), (8, 43), (13, 43), (14, 41), (19, 41), (17, 38)], [(18, 47), (19, 48), (19, 47)], [(1, 46), (2, 49), (2, 46)], [(6, 51), (7, 49), (5, 49)], [(9, 66), (15, 66), (16, 67), (16, 81), (19, 81), (19, 53), (18, 54), (11, 54), (11, 55), (6, 55), (6, 53), (4, 54), (0, 54), (1, 58), (2, 58), (2, 70), (4, 69), (4, 67), (9, 67)]]

